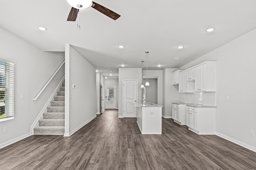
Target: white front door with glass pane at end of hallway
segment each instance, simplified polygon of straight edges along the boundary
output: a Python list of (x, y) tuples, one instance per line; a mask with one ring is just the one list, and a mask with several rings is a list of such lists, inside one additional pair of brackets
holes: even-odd
[(105, 109), (116, 109), (116, 86), (105, 86)]

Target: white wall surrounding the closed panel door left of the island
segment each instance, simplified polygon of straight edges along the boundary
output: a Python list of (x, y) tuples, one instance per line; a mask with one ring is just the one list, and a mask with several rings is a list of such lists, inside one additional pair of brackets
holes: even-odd
[(138, 100), (140, 103), (142, 97), (142, 90), (140, 85), (142, 83), (142, 68), (119, 68), (118, 70), (118, 116), (122, 117), (123, 114), (123, 80), (138, 80)]

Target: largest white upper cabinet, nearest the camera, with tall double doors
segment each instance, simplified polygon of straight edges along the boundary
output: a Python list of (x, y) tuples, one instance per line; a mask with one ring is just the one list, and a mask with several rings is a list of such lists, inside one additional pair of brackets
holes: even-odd
[(195, 68), (195, 91), (216, 92), (216, 62)]

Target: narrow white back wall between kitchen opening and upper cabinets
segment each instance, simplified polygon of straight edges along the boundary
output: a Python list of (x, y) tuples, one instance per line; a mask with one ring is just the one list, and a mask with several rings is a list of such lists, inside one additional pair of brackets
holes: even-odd
[(172, 86), (172, 72), (177, 68), (165, 68), (163, 70), (163, 111), (166, 118), (172, 116), (172, 102), (178, 102), (178, 86)]

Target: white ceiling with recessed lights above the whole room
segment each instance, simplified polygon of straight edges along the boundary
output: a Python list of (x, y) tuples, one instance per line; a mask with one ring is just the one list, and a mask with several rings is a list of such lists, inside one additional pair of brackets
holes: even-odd
[[(44, 51), (73, 45), (104, 76), (110, 70), (117, 76), (121, 64), (141, 67), (145, 51), (149, 70), (178, 68), (256, 28), (256, 0), (95, 2), (121, 17), (114, 21), (93, 8), (81, 10), (77, 29), (76, 22), (66, 21), (71, 9), (66, 0), (1, 0), (0, 27)], [(216, 30), (206, 32), (210, 27)]]

